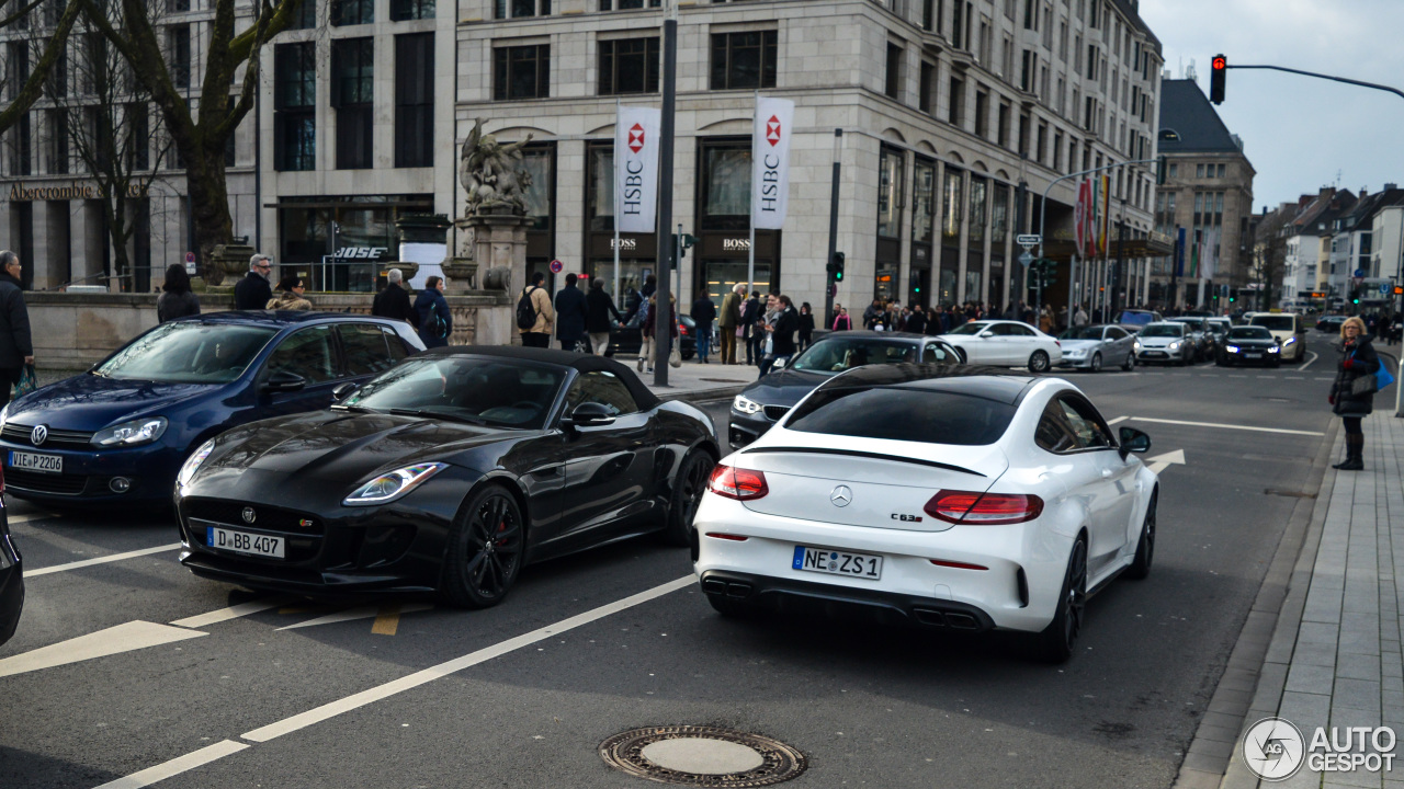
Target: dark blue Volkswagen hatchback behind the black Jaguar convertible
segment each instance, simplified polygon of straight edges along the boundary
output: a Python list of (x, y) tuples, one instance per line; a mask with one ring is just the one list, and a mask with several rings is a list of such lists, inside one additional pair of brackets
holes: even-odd
[(6, 493), (74, 508), (167, 505), (176, 473), (237, 424), (324, 409), (424, 350), (404, 321), (307, 312), (173, 320), (0, 410)]

